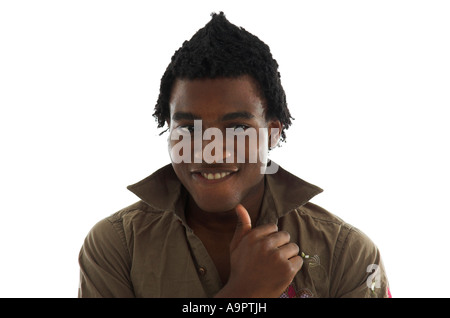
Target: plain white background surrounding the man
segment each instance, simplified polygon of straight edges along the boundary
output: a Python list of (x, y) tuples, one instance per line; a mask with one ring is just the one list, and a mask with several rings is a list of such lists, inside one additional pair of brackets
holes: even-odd
[(272, 158), (378, 245), (394, 297), (449, 297), (447, 1), (0, 2), (1, 297), (76, 297), (79, 249), (169, 162), (170, 57), (223, 10), (280, 64)]

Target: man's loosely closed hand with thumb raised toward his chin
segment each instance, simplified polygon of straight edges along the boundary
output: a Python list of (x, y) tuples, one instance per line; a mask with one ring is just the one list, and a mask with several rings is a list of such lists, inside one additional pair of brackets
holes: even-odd
[(299, 247), (276, 224), (252, 228), (238, 204), (238, 223), (230, 244), (230, 277), (216, 297), (279, 297), (303, 265)]

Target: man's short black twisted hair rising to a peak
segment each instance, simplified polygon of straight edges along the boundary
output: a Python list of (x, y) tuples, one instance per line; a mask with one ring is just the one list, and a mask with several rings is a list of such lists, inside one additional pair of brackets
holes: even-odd
[(161, 78), (160, 93), (153, 117), (158, 128), (170, 118), (169, 100), (176, 79), (236, 78), (249, 75), (266, 101), (266, 119), (277, 118), (285, 130), (291, 125), (286, 95), (281, 85), (278, 63), (270, 48), (244, 28), (230, 23), (225, 14), (212, 13), (212, 19), (172, 56)]

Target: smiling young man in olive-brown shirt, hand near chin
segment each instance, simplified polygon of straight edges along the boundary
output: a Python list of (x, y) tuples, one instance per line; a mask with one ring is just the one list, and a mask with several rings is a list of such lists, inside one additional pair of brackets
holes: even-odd
[(291, 116), (256, 36), (213, 14), (172, 57), (154, 116), (172, 163), (90, 231), (80, 297), (390, 296), (371, 240), (269, 164)]

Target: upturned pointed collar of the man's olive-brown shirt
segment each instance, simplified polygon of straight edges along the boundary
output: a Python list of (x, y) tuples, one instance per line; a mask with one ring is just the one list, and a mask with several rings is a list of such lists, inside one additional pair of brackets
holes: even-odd
[[(323, 190), (281, 167), (274, 174), (265, 175), (266, 187), (257, 224), (277, 222), (278, 218), (304, 205)], [(170, 211), (185, 221), (184, 207), (187, 191), (171, 164), (147, 178), (129, 185), (128, 190), (158, 211)]]

